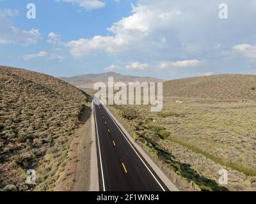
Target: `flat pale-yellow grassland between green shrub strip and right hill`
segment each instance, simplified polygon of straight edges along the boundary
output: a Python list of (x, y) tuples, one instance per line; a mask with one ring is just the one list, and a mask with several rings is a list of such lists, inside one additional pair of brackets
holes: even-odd
[[(166, 103), (164, 110), (179, 110), (181, 117), (157, 119), (172, 135), (256, 176), (255, 103)], [(250, 170), (251, 169), (251, 170)]]

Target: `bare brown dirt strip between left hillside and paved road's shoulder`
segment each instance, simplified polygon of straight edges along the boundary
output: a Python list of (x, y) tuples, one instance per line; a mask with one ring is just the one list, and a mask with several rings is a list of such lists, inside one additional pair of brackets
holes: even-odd
[(66, 164), (54, 191), (90, 190), (91, 117), (91, 109), (83, 112), (81, 116), (83, 125), (78, 129), (77, 138), (69, 152), (70, 162)]

